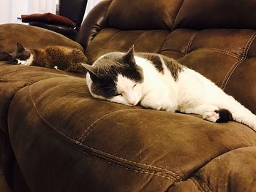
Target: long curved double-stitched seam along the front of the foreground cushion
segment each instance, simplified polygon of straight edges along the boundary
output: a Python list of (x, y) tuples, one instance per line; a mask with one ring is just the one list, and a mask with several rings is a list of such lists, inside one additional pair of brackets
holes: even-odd
[[(73, 139), (72, 137), (69, 137), (69, 136), (67, 136), (67, 134), (64, 134), (63, 132), (61, 132), (61, 131), (59, 131), (57, 128), (55, 128), (54, 126), (52, 126), (49, 122), (48, 122), (48, 120), (45, 120), (45, 118), (44, 117), (42, 117), (42, 115), (41, 115), (41, 113), (39, 112), (39, 110), (37, 109), (37, 104), (34, 102), (34, 100), (32, 99), (32, 97), (31, 97), (31, 86), (29, 87), (29, 100), (31, 101), (31, 104), (34, 106), (34, 109), (36, 110), (36, 112), (37, 112), (37, 114), (39, 115), (39, 118), (43, 121), (43, 122), (45, 122), (48, 126), (50, 126), (50, 128), (53, 128), (53, 130), (54, 131), (56, 131), (56, 133), (57, 134), (59, 134), (59, 135), (61, 135), (61, 137), (63, 137), (67, 142), (69, 142), (70, 144), (72, 144), (74, 147), (76, 147), (78, 150), (81, 150), (79, 147), (78, 147), (78, 145), (75, 145), (75, 143), (76, 144), (79, 144), (79, 146), (83, 146), (83, 147), (87, 147), (88, 149), (91, 149), (91, 150), (95, 150), (96, 152), (100, 152), (100, 153), (105, 153), (105, 152), (103, 152), (103, 151), (101, 151), (101, 150), (97, 150), (97, 149), (94, 149), (93, 147), (89, 147), (88, 145), (84, 145), (83, 143), (80, 143), (78, 140), (75, 140), (75, 139)], [(81, 150), (83, 153), (86, 153), (85, 151), (83, 151), (83, 150)], [(94, 153), (93, 151), (91, 151), (91, 153)], [(89, 153), (89, 154), (91, 154), (91, 153)], [(108, 154), (108, 155), (111, 155), (111, 154), (109, 154), (109, 153), (106, 153), (106, 154)], [(93, 155), (93, 154), (91, 154), (91, 155)], [(99, 154), (99, 155), (102, 155), (102, 154)], [(93, 155), (94, 157), (95, 157), (95, 155)], [(116, 157), (116, 158), (119, 158), (119, 157), (117, 157), (117, 156), (115, 156), (115, 155), (111, 155), (111, 156), (113, 156), (113, 157)], [(97, 158), (99, 158), (99, 157), (97, 157)], [(107, 163), (109, 163), (109, 164), (112, 164), (112, 162), (110, 162), (110, 161), (107, 161), (107, 160), (104, 160), (104, 159), (102, 159), (102, 158), (99, 158), (100, 160), (102, 160), (102, 161), (105, 161), (105, 162), (107, 162)], [(124, 158), (119, 158), (119, 159), (123, 159), (124, 160)], [(113, 159), (113, 161), (115, 161), (114, 159)], [(129, 160), (126, 160), (127, 162), (129, 162)], [(130, 162), (133, 162), (133, 161), (130, 161)], [(124, 164), (124, 162), (120, 162), (120, 163), (123, 163)], [(134, 164), (138, 164), (138, 165), (144, 165), (144, 166), (146, 166), (146, 167), (148, 167), (148, 168), (146, 168), (146, 169), (148, 169), (148, 171), (154, 171), (154, 172), (156, 172), (155, 170), (150, 170), (149, 168), (154, 168), (154, 169), (159, 169), (159, 170), (164, 170), (164, 171), (167, 171), (166, 173), (164, 173), (164, 172), (158, 172), (157, 174), (155, 174), (154, 172), (152, 173), (152, 172), (148, 172), (148, 174), (154, 174), (154, 175), (157, 175), (157, 176), (161, 176), (161, 177), (165, 177), (165, 178), (167, 178), (167, 179), (170, 179), (170, 180), (173, 180), (173, 179), (171, 179), (170, 177), (166, 177), (165, 175), (160, 175), (159, 173), (161, 173), (161, 174), (169, 174), (170, 176), (173, 176), (172, 174), (175, 174), (176, 175), (176, 177), (178, 177), (178, 178), (180, 178), (179, 180), (182, 180), (181, 179), (181, 177), (178, 175), (178, 174), (176, 174), (175, 172), (172, 172), (172, 171), (170, 171), (170, 170), (168, 170), (168, 169), (163, 169), (163, 168), (160, 168), (160, 167), (157, 167), (157, 166), (150, 166), (150, 165), (147, 165), (147, 164), (140, 164), (140, 163), (138, 163), (138, 162), (133, 162)], [(134, 166), (134, 165), (131, 165), (131, 164), (127, 164), (128, 166), (133, 166), (134, 168), (138, 168), (138, 169), (143, 169), (143, 168), (141, 168), (141, 167), (136, 167), (136, 166)], [(124, 167), (124, 166), (121, 166), (121, 167)], [(124, 167), (124, 168), (127, 168), (127, 167)], [(127, 169), (129, 169), (129, 168), (127, 168)], [(145, 169), (145, 168), (144, 168)], [(134, 169), (134, 170), (136, 170), (136, 169)], [(136, 171), (138, 171), (138, 170), (136, 170)], [(138, 171), (139, 172), (139, 171)], [(170, 172), (170, 173), (172, 173), (172, 174), (170, 174), (170, 173), (168, 173), (168, 172)], [(146, 173), (146, 172), (144, 172), (144, 173)], [(173, 176), (173, 177), (175, 177), (175, 176)]]

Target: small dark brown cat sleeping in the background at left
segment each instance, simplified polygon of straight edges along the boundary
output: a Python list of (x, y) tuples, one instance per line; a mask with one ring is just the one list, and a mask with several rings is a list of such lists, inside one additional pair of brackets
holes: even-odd
[(86, 73), (81, 63), (88, 63), (86, 55), (76, 48), (49, 46), (42, 49), (28, 49), (17, 43), (13, 53), (1, 53), (0, 61), (25, 66), (41, 66), (69, 72)]

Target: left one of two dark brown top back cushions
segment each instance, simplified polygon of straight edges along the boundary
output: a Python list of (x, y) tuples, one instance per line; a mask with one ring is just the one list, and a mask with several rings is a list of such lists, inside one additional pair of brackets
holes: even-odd
[(171, 29), (182, 0), (113, 0), (108, 26), (124, 30)]

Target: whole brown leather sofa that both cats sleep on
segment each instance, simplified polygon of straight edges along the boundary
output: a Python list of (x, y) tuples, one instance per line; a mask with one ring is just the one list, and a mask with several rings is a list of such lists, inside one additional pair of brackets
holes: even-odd
[[(107, 0), (83, 22), (80, 45), (7, 24), (0, 51), (66, 45), (92, 63), (135, 45), (178, 59), (256, 113), (255, 9), (242, 0)], [(81, 75), (6, 62), (0, 101), (0, 160), (14, 191), (256, 191), (256, 133), (240, 123), (101, 101)]]

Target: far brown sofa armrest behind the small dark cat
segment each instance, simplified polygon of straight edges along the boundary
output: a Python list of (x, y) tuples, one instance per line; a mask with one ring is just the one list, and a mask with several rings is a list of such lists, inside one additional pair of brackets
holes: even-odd
[(12, 53), (17, 42), (28, 48), (61, 45), (83, 51), (78, 42), (48, 29), (10, 23), (0, 25), (0, 52)]

